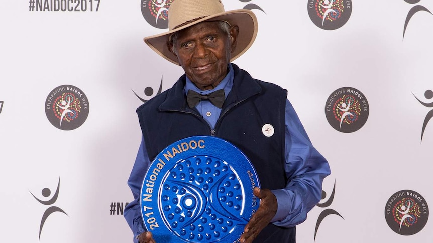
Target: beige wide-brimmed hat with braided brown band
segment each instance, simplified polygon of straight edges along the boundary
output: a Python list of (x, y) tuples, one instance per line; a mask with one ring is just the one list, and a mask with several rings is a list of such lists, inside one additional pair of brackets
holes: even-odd
[(145, 37), (144, 41), (156, 53), (179, 65), (177, 57), (168, 50), (167, 41), (175, 32), (204, 21), (224, 20), (239, 27), (236, 50), (230, 61), (250, 48), (257, 36), (257, 18), (250, 10), (225, 11), (221, 0), (173, 0), (168, 10), (168, 32)]

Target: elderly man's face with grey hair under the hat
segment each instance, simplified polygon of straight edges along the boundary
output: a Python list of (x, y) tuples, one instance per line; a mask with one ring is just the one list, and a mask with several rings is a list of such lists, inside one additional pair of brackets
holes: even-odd
[[(231, 27), (228, 35), (220, 29), (217, 21), (202, 22), (178, 32), (172, 44), (174, 55), (199, 89), (212, 89), (227, 75), (237, 34), (237, 26)], [(168, 45), (170, 48), (171, 44)]]

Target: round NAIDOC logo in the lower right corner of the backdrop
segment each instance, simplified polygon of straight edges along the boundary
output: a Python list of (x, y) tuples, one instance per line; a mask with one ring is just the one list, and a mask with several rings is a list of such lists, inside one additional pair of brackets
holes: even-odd
[(427, 202), (415, 191), (399, 191), (388, 199), (385, 206), (385, 219), (388, 226), (398, 234), (416, 234), (427, 223)]

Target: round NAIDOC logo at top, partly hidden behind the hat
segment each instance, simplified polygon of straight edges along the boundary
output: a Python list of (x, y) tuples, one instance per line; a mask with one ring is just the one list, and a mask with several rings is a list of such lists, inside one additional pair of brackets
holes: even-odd
[(141, 13), (151, 26), (168, 28), (168, 9), (174, 0), (141, 0)]

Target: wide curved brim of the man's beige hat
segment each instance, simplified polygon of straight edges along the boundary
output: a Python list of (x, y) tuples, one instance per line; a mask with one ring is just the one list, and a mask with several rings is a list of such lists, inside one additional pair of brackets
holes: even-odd
[(179, 65), (177, 57), (168, 50), (167, 42), (168, 38), (175, 32), (186, 29), (195, 24), (205, 22), (205, 21), (218, 21), (224, 20), (230, 23), (232, 26), (239, 27), (238, 40), (235, 51), (232, 53), (232, 58), (230, 61), (235, 60), (246, 52), (251, 45), (253, 45), (254, 40), (257, 36), (258, 25), (256, 15), (251, 10), (241, 9), (241, 10), (230, 10), (215, 15), (210, 15), (201, 18), (195, 22), (189, 23), (187, 25), (181, 26), (174, 30), (161, 33), (154, 36), (149, 36), (144, 38), (144, 42), (149, 45), (152, 50), (161, 55), (168, 61)]

